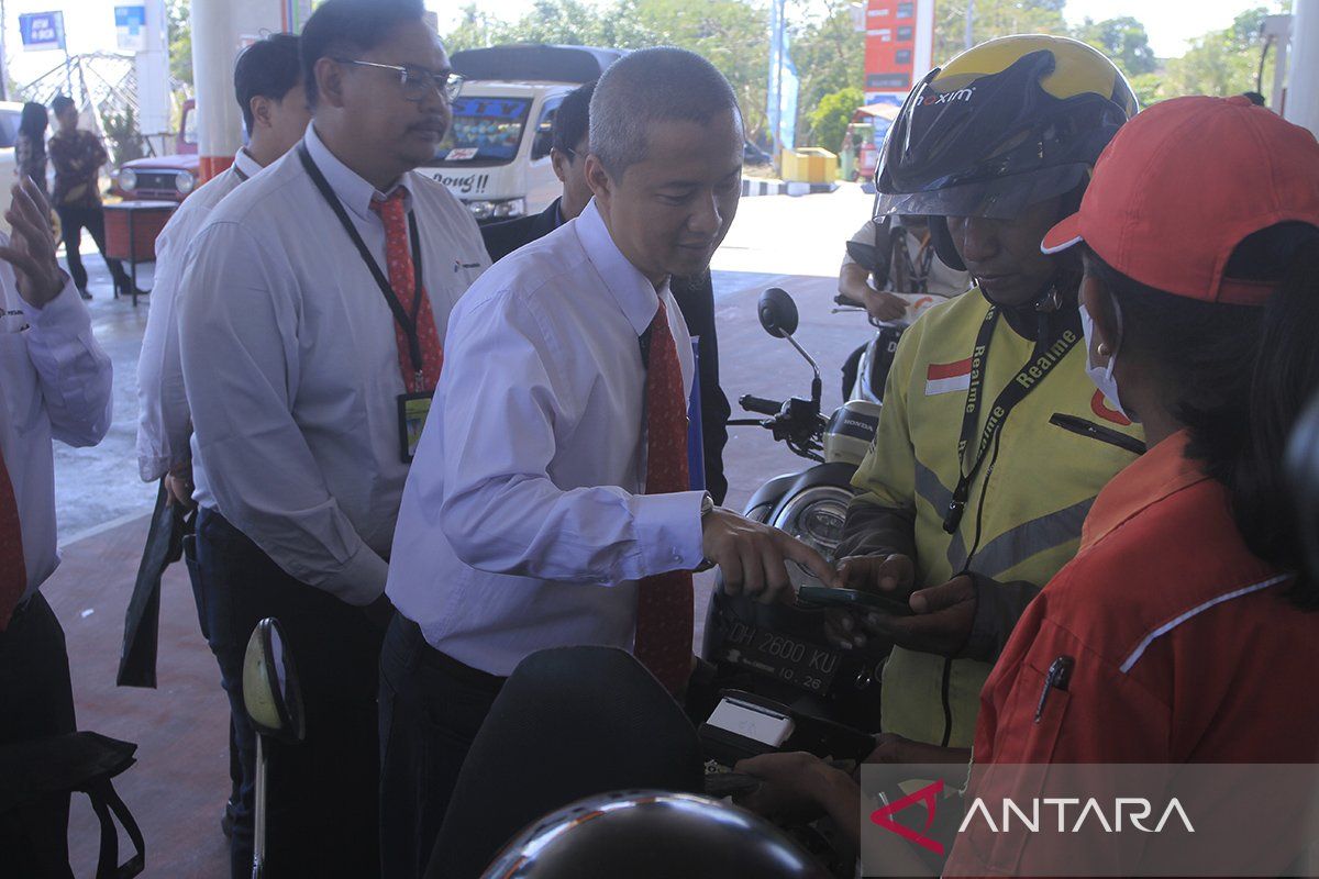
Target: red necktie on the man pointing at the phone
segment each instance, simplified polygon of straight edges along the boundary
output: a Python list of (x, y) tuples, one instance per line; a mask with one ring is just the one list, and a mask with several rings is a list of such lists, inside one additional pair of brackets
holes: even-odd
[[(646, 494), (687, 492), (687, 397), (678, 347), (663, 299), (650, 322), (646, 368)], [(637, 584), (633, 652), (670, 693), (691, 676), (692, 590), (690, 571), (670, 571)]]

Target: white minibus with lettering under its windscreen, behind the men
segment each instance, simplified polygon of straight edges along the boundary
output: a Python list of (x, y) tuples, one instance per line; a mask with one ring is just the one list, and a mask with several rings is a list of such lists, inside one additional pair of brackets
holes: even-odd
[(554, 113), (621, 55), (538, 43), (454, 53), (454, 70), (467, 82), (434, 161), (417, 170), (447, 186), (477, 221), (543, 211), (561, 190), (550, 165)]

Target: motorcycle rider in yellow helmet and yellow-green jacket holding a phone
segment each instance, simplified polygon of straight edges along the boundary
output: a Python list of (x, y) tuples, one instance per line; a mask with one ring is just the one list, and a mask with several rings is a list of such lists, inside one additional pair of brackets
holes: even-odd
[(914, 611), (830, 621), (840, 646), (896, 644), (881, 689), (894, 760), (911, 739), (971, 745), (1004, 640), (1142, 449), (1086, 374), (1079, 264), (1039, 252), (1134, 112), (1095, 49), (1005, 37), (931, 71), (886, 141), (876, 213), (929, 216), (940, 258), (976, 281), (904, 335), (838, 551), (848, 585)]

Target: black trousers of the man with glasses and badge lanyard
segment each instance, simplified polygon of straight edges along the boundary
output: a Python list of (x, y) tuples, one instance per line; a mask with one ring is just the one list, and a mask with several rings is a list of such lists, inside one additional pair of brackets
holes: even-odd
[(266, 874), (377, 875), (376, 693), (384, 633), (361, 609), (290, 577), (214, 510), (198, 515), (197, 569), (243, 768), (233, 878), (252, 875), (256, 733), (243, 705), (243, 658), (265, 617), (284, 630), (307, 727), (301, 743), (266, 743)]

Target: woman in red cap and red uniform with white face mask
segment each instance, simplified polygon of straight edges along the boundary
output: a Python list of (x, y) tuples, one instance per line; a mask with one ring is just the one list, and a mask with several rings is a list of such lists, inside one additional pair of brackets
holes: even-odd
[[(1120, 833), (1059, 845), (976, 822), (958, 832), (943, 875), (1195, 872), (1169, 868), (1170, 855), (1212, 857), (1221, 875), (1306, 872), (1297, 858), (1314, 834), (1298, 801), (1312, 801), (1314, 776), (1295, 767), (1314, 762), (1319, 741), (1319, 698), (1299, 684), (1319, 660), (1319, 565), (1312, 519), (1298, 523), (1287, 502), (1307, 506), (1283, 448), (1290, 435), (1289, 464), (1315, 451), (1301, 412), (1319, 387), (1319, 144), (1242, 96), (1163, 101), (1119, 133), (1080, 211), (1042, 246), (1082, 252), (1083, 360), (1141, 420), (1150, 449), (1100, 493), (1080, 552), (995, 666), (966, 801), (993, 810), (1024, 787), (1018, 801), (1047, 796), (1055, 772), (1078, 766), (1134, 764), (1150, 779), (1096, 774), (1091, 801), (1117, 785), (1125, 796), (1162, 787), (1159, 766), (1244, 772), (1216, 779), (1232, 796), (1196, 801), (1194, 845), (1132, 849)], [(1045, 789), (1012, 768), (1041, 763), (1054, 767)], [(1291, 764), (1287, 780), (1260, 763)], [(859, 826), (861, 791), (816, 758), (737, 768), (765, 781), (748, 800), (762, 813), (810, 803), (842, 816), (844, 832)], [(1244, 833), (1240, 809), (1269, 833)], [(897, 836), (864, 842), (884, 875), (923, 866)]]

